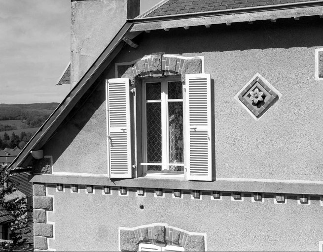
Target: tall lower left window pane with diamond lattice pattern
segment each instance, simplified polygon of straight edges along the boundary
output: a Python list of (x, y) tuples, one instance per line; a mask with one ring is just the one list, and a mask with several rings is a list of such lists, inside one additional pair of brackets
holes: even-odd
[(146, 103), (147, 162), (162, 162), (161, 103)]

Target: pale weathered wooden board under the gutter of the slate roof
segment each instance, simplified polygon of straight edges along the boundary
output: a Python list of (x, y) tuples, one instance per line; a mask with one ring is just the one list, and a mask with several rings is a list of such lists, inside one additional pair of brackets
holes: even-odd
[(179, 16), (176, 19), (170, 16), (168, 19), (148, 19), (138, 20), (132, 27), (131, 32), (167, 30), (170, 28), (189, 27), (189, 26), (208, 26), (215, 24), (228, 24), (236, 22), (251, 22), (257, 20), (273, 20), (279, 18), (294, 18), (305, 16), (319, 16), (323, 14), (322, 2), (312, 3), (314, 6), (289, 7), (281, 9), (257, 8), (243, 11), (217, 12), (212, 15), (201, 14), (200, 16)]

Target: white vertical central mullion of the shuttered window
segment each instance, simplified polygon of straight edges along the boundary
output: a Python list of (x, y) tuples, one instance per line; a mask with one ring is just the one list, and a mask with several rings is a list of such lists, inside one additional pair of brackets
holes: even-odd
[(162, 103), (162, 163), (163, 170), (167, 170), (167, 85), (166, 80), (161, 82), (161, 103)]

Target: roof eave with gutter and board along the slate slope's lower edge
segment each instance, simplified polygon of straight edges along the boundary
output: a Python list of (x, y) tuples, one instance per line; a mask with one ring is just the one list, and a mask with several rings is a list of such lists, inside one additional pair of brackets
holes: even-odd
[[(322, 15), (323, 0), (129, 19), (132, 32), (274, 18)], [(317, 9), (316, 9), (317, 8)], [(264, 13), (266, 16), (261, 17)], [(232, 18), (234, 17), (234, 18)], [(204, 20), (203, 20), (204, 19)], [(183, 21), (182, 23), (180, 21)], [(195, 22), (194, 22), (195, 21)], [(230, 22), (231, 21), (231, 22)]]

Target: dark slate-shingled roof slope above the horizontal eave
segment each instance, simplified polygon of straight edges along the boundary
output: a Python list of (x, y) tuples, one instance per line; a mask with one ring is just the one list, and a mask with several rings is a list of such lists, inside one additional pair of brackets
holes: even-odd
[(312, 0), (167, 0), (141, 17), (158, 17), (308, 1)]

